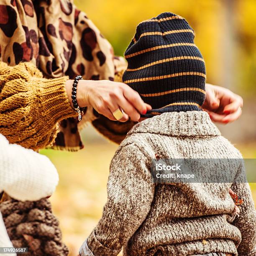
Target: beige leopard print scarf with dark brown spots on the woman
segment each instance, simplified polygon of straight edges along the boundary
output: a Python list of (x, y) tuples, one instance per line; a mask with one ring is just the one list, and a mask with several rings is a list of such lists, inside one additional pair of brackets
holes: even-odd
[[(48, 78), (68, 75), (72, 79), (80, 74), (83, 79), (114, 80), (126, 67), (70, 0), (0, 0), (0, 61), (10, 66), (30, 61)], [(79, 127), (97, 116), (87, 108)], [(77, 120), (63, 120), (54, 148), (82, 147)]]

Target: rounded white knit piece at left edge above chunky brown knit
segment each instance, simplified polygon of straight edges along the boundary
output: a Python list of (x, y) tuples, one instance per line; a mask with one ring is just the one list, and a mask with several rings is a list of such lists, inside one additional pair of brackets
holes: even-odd
[(53, 194), (59, 175), (46, 156), (9, 144), (0, 134), (0, 181), (0, 192), (16, 200), (34, 201)]

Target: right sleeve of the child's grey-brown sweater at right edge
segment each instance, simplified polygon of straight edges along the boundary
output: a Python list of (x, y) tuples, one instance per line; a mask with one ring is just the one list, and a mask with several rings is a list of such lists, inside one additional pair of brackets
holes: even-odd
[(256, 255), (256, 211), (251, 195), (251, 189), (245, 181), (245, 169), (242, 165), (240, 174), (233, 183), (231, 189), (236, 193), (238, 200), (243, 200), (241, 205), (238, 205), (240, 214), (234, 220), (235, 225), (241, 232), (242, 241), (238, 246), (239, 256), (255, 256)]

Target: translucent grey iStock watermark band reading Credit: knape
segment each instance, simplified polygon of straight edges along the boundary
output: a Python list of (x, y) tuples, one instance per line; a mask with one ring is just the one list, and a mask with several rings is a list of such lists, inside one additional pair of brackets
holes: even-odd
[(256, 182), (256, 159), (152, 159), (155, 183)]

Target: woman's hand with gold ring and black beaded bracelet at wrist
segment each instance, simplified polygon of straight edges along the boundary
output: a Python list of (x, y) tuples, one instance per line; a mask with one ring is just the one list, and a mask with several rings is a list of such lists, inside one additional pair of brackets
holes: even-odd
[[(73, 81), (68, 80), (66, 84), (71, 105)], [(115, 121), (112, 113), (118, 108), (122, 108), (124, 113), (123, 118), (119, 120), (121, 122), (126, 122), (129, 118), (138, 121), (140, 114), (146, 114), (147, 110), (151, 110), (151, 106), (143, 102), (138, 92), (127, 84), (108, 80), (79, 80), (77, 103), (80, 107), (92, 106), (98, 113)]]

